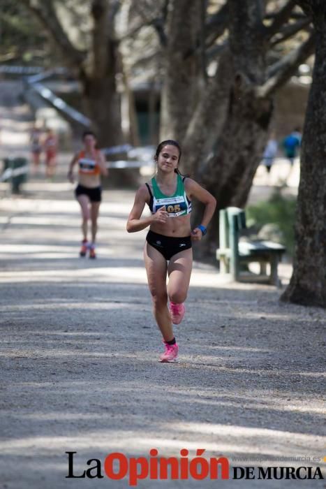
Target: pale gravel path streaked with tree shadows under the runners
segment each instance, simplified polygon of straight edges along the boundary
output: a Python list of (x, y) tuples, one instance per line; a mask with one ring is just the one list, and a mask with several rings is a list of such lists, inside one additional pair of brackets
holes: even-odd
[[(77, 256), (70, 184), (39, 177), (25, 191), (0, 200), (1, 489), (129, 487), (127, 479), (66, 479), (66, 451), (77, 451), (76, 474), (90, 458), (148, 457), (151, 448), (164, 456), (187, 448), (189, 458), (205, 448), (232, 466), (325, 465), (312, 459), (325, 456), (322, 309), (281, 305), (272, 287), (223, 283), (214, 268), (195, 264), (175, 331), (180, 362), (163, 365), (142, 265), (145, 232), (125, 231), (132, 193), (105, 192), (90, 261)], [(298, 481), (138, 483), (163, 485)]]

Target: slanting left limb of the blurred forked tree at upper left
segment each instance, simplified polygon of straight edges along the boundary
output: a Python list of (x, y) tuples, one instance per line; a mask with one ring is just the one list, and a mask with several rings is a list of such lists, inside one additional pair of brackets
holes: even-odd
[(40, 20), (47, 32), (50, 33), (61, 52), (64, 53), (64, 57), (68, 60), (68, 63), (79, 68), (86, 57), (86, 53), (77, 50), (69, 40), (59, 22), (52, 1), (47, 0), (42, 2), (41, 8), (36, 6), (31, 0), (22, 0), (22, 3)]

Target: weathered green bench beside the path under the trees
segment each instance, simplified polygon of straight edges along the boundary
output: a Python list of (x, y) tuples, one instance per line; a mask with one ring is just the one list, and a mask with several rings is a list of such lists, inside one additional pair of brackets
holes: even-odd
[[(227, 207), (219, 212), (220, 247), (216, 258), (220, 261), (220, 273), (230, 274), (237, 282), (262, 282), (281, 286), (277, 267), (285, 247), (272, 241), (239, 241), (240, 233), (246, 228), (246, 214), (239, 207)], [(241, 272), (242, 265), (258, 262), (260, 274)], [(267, 272), (269, 263), (270, 272)]]

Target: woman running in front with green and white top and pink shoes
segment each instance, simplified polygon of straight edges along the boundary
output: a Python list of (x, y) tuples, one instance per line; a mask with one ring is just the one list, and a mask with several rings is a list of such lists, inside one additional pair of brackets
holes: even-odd
[[(216, 207), (215, 198), (177, 168), (181, 148), (174, 140), (160, 143), (156, 149), (156, 176), (138, 189), (126, 225), (128, 233), (149, 226), (144, 258), (154, 316), (161, 330), (165, 351), (161, 362), (177, 360), (179, 346), (172, 323), (181, 323), (193, 263), (192, 240), (201, 240)], [(191, 231), (191, 200), (205, 204), (202, 222)], [(145, 204), (150, 217), (143, 217)], [(168, 275), (168, 285), (166, 279)], [(168, 309), (168, 300), (170, 307)]]

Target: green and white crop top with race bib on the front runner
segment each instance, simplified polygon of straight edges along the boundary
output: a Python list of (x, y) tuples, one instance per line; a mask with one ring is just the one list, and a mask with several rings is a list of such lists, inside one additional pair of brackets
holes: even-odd
[(158, 211), (161, 207), (165, 205), (169, 217), (179, 217), (186, 216), (186, 214), (191, 213), (191, 200), (188, 199), (186, 195), (186, 190), (184, 189), (184, 179), (186, 177), (181, 177), (179, 173), (177, 174), (177, 189), (175, 194), (172, 196), (165, 196), (158, 187), (155, 177), (151, 179), (151, 186), (147, 185), (149, 191), (150, 201), (149, 209), (152, 214)]

